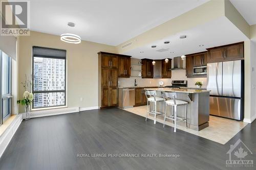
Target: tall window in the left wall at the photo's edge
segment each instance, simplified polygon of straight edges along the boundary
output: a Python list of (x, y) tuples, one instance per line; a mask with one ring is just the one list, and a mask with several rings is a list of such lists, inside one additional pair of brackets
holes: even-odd
[(11, 58), (1, 53), (1, 124), (11, 115)]

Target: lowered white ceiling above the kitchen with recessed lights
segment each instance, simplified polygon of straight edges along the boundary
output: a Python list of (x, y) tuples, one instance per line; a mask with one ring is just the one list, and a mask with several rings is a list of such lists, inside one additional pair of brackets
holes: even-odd
[[(221, 26), (221, 27), (220, 27)], [(187, 35), (186, 39), (180, 39), (180, 35)], [(164, 44), (165, 40), (169, 40), (169, 44)], [(135, 48), (126, 55), (133, 58), (150, 58), (164, 59), (173, 58), (181, 55), (192, 54), (206, 51), (206, 48), (215, 47), (230, 43), (236, 43), (248, 40), (248, 38), (230, 22), (226, 17), (221, 17), (214, 21), (197, 26), (193, 29), (180, 32), (176, 35), (166, 37), (151, 44)], [(151, 45), (158, 45), (152, 48)], [(199, 45), (204, 45), (200, 47)], [(165, 52), (156, 52), (156, 50), (166, 49)], [(143, 52), (143, 53), (140, 53)], [(172, 53), (174, 52), (174, 53)]]

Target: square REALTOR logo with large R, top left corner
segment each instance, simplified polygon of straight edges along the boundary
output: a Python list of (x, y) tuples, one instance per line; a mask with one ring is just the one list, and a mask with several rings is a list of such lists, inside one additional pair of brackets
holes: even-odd
[(30, 2), (1, 1), (1, 36), (30, 35)]

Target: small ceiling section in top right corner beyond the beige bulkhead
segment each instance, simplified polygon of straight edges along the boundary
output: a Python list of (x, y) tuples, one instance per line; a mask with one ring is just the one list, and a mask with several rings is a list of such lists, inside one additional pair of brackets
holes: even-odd
[(256, 0), (229, 0), (249, 25), (256, 24)]

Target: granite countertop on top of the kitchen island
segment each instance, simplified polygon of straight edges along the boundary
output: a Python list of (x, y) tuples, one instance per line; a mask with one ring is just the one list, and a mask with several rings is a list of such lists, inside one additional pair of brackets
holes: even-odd
[(204, 93), (210, 92), (210, 90), (202, 89), (179, 89), (179, 88), (146, 88), (145, 90), (156, 90), (156, 91), (166, 91), (166, 92), (178, 92), (178, 93)]

